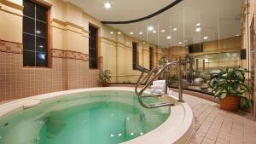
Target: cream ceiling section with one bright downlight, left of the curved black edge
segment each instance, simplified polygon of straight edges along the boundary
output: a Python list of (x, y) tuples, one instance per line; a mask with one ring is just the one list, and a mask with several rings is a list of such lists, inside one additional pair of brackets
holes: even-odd
[[(64, 0), (82, 8), (101, 21), (135, 20), (153, 14), (175, 0)], [(105, 9), (104, 3), (111, 3)]]

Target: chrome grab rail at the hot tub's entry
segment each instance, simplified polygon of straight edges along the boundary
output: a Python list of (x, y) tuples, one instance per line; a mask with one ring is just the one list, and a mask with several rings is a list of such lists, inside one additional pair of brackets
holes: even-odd
[[(143, 97), (154, 97), (154, 96), (161, 96), (161, 95), (146, 95), (143, 96), (143, 92), (148, 88), (150, 84), (153, 83), (153, 81), (160, 76), (163, 72), (168, 70), (169, 66), (177, 66), (177, 74), (178, 74), (178, 102), (183, 102), (183, 88), (182, 88), (182, 71), (180, 62), (173, 61), (173, 62), (167, 62), (165, 66), (154, 66), (148, 74), (143, 78), (143, 73), (137, 80), (137, 85), (135, 87), (135, 93), (138, 96), (139, 103), (145, 107), (145, 108), (155, 108), (155, 107), (166, 107), (166, 106), (173, 106), (172, 103), (158, 103), (158, 104), (151, 104), (149, 106), (145, 105), (143, 103)], [(154, 77), (149, 80), (149, 78), (154, 74)], [(143, 78), (143, 79), (142, 79)], [(149, 82), (148, 82), (149, 80)], [(145, 81), (145, 85), (142, 89), (138, 91), (138, 88), (143, 84), (143, 81)], [(168, 86), (167, 86), (167, 79), (166, 79), (166, 88), (165, 88), (165, 94), (167, 94)]]

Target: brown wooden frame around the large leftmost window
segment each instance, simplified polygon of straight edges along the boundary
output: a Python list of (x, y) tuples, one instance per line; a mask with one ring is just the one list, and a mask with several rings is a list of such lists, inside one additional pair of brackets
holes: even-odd
[[(23, 0), (24, 1), (24, 0)], [(22, 1), (22, 3), (23, 3)], [(52, 43), (51, 43), (51, 26), (50, 26), (50, 12), (51, 12), (51, 5), (48, 3), (40, 3), (37, 0), (31, 0), (32, 3), (35, 3), (37, 5), (40, 5), (44, 8), (47, 9), (47, 14), (46, 14), (46, 45), (47, 45), (47, 66), (24, 66), (24, 58), (22, 57), (22, 66), (23, 68), (52, 68), (52, 54), (51, 54), (51, 49), (52, 49)], [(24, 6), (24, 5), (23, 5)], [(22, 16), (22, 21), (24, 20), (24, 15)], [(24, 33), (24, 28), (23, 28), (23, 22), (22, 22), (22, 44), (23, 44), (23, 33)], [(35, 43), (36, 45), (37, 43)], [(22, 55), (23, 55), (24, 49), (22, 49)]]

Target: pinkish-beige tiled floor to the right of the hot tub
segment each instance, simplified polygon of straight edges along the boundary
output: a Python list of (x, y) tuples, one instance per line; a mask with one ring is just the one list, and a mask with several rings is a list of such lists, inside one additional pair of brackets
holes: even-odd
[(218, 108), (218, 104), (184, 95), (195, 116), (189, 144), (256, 144), (256, 122)]

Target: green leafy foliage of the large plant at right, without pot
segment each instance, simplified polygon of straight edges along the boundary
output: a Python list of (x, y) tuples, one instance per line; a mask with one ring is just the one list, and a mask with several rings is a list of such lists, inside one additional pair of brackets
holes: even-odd
[(244, 95), (252, 92), (251, 88), (245, 84), (246, 72), (248, 71), (242, 68), (227, 68), (226, 71), (219, 71), (218, 77), (209, 81), (214, 97), (218, 97), (221, 101), (227, 95), (241, 96), (240, 107), (251, 107), (252, 101)]

